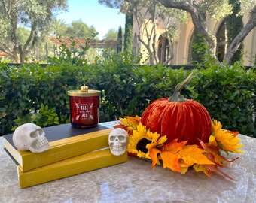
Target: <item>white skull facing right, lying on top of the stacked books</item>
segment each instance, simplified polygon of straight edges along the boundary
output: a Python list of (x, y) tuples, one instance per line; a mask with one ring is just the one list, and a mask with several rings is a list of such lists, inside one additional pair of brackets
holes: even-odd
[(30, 150), (32, 153), (41, 153), (49, 150), (49, 142), (41, 127), (33, 123), (25, 123), (14, 131), (13, 142), (18, 150)]

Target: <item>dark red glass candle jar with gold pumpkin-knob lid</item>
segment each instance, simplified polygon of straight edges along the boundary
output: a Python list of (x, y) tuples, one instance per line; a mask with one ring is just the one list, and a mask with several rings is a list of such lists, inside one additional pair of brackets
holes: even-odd
[(81, 86), (80, 90), (70, 90), (70, 122), (77, 128), (91, 128), (99, 123), (99, 90)]

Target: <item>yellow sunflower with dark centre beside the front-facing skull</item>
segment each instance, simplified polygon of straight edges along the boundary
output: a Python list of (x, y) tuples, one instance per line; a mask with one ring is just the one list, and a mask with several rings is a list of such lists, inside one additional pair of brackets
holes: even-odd
[(142, 123), (139, 123), (137, 129), (133, 130), (133, 135), (130, 135), (127, 151), (136, 154), (140, 158), (151, 159), (150, 151), (163, 146), (166, 140), (166, 136), (151, 132)]

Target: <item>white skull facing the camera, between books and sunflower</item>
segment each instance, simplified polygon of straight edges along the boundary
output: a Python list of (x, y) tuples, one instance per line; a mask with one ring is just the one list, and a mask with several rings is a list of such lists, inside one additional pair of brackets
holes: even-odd
[(128, 141), (128, 133), (121, 128), (113, 129), (108, 135), (110, 151), (115, 156), (120, 156), (126, 152)]

